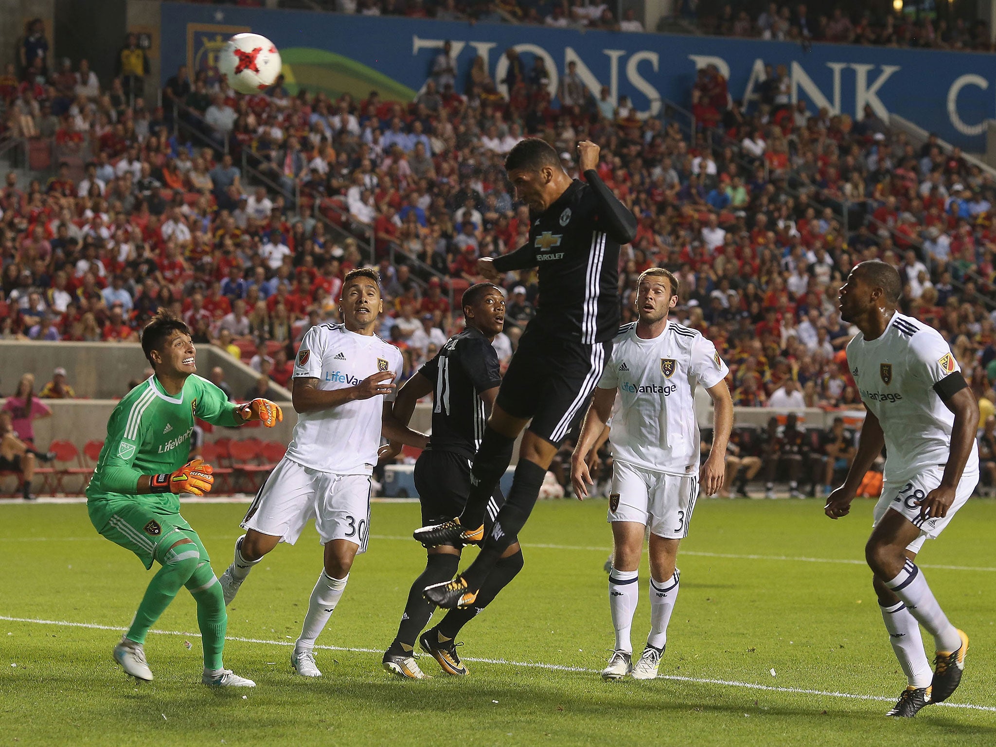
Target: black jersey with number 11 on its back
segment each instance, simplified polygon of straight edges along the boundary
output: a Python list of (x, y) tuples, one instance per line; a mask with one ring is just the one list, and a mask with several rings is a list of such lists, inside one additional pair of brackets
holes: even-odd
[(432, 450), (472, 458), (487, 420), (480, 393), (501, 383), (495, 349), (480, 331), (468, 327), (447, 340), (418, 373), (435, 384), (429, 438)]

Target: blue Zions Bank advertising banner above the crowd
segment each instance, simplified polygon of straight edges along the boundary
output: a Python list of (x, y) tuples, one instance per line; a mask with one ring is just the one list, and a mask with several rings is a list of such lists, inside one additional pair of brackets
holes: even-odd
[(985, 148), (986, 120), (996, 119), (996, 55), (934, 50), (797, 44), (661, 34), (582, 32), (542, 26), (470, 24), (398, 17), (369, 18), (309, 11), (162, 3), (162, 76), (181, 64), (210, 68), (232, 35), (253, 31), (280, 49), (287, 87), (350, 92), (363, 99), (408, 101), (425, 84), (443, 42), (452, 42), (457, 90), (480, 56), (496, 82), (504, 52), (515, 47), (528, 67), (542, 56), (550, 89), (571, 61), (596, 94), (629, 97), (644, 116), (661, 100), (687, 107), (699, 67), (715, 64), (734, 99), (757, 97), (765, 65), (785, 65), (793, 101), (861, 117), (866, 105), (882, 119), (900, 115), (968, 151)]

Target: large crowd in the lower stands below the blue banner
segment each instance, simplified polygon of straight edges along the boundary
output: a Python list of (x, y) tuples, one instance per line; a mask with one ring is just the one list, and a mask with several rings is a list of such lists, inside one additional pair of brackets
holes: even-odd
[[(370, 263), (386, 301), (380, 333), (407, 377), (458, 326), (451, 298), (476, 279), (477, 257), (526, 241), (504, 153), (539, 135), (576, 174), (574, 145), (591, 138), (603, 179), (639, 220), (623, 252), (623, 320), (636, 275), (671, 269), (675, 317), (723, 351), (736, 404), (861, 408), (837, 288), (879, 257), (904, 280), (902, 310), (945, 335), (983, 421), (993, 414), (994, 183), (957, 149), (915, 147), (871, 109), (854, 122), (792, 106), (781, 68), (747, 108), (715, 68), (701, 70), (689, 132), (588, 91), (573, 64), (552, 98), (542, 59), (506, 54), (496, 82), (480, 59), (458, 70), (441, 50), (407, 105), (292, 94), (282, 81), (236, 97), (181, 69), (163, 106), (146, 107), (86, 61), (47, 76), (32, 64), (20, 80), (9, 71), (6, 133), (49, 138), (86, 165), (27, 184), (12, 171), (0, 187), (0, 337), (133, 341), (165, 306), (196, 343), (286, 385), (307, 329), (338, 318), (344, 273)], [(174, 109), (189, 127), (174, 128)], [(244, 183), (243, 153), (281, 190)], [(507, 362), (538, 299), (530, 271), (504, 285), (496, 347)]]

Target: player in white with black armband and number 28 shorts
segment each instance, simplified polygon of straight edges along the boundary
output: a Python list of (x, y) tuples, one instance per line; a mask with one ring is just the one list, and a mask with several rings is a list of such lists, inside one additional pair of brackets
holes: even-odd
[[(896, 311), (901, 294), (898, 272), (877, 260), (857, 265), (841, 288), (841, 319), (861, 330), (848, 345), (848, 366), (868, 412), (848, 478), (825, 510), (831, 519), (847, 516), (884, 445), (881, 498), (865, 557), (908, 681), (886, 715), (910, 717), (947, 699), (965, 665), (968, 636), (948, 622), (913, 561), (979, 481), (979, 407), (944, 339)], [(919, 625), (934, 638), (932, 675)]]

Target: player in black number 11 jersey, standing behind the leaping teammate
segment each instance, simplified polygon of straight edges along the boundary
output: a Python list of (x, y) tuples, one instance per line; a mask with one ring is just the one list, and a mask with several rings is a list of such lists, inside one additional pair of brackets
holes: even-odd
[[(423, 524), (445, 521), (463, 509), (470, 491), (470, 460), (480, 445), (484, 423), (501, 383), (498, 355), (491, 347), (491, 341), (505, 323), (505, 298), (501, 289), (491, 283), (478, 283), (463, 294), (462, 305), (466, 329), (451, 337), (435, 358), (405, 382), (394, 402), (395, 417), (407, 423), (415, 402), (432, 394), (432, 435), (415, 462), (415, 487)], [(394, 453), (393, 447), (387, 448), (381, 458)], [(494, 520), (504, 500), (501, 491), (495, 488), (487, 503), (487, 524)], [(383, 654), (383, 666), (388, 671), (411, 679), (425, 676), (411, 655), (415, 638), (429, 622), (434, 609), (422, 591), (453, 578), (462, 545), (454, 541), (427, 548), (425, 570), (411, 585), (397, 636)], [(473, 607), (451, 610), (442, 621), (421, 634), (422, 649), (435, 657), (443, 671), (467, 673), (456, 653), (456, 634), (521, 568), (522, 551), (518, 543), (512, 543), (495, 564)]]

